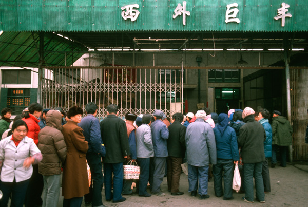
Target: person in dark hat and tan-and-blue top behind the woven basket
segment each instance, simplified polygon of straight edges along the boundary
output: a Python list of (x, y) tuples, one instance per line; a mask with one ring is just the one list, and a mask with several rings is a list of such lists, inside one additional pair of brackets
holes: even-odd
[[(126, 113), (126, 128), (127, 128), (127, 136), (128, 136), (128, 143), (130, 149), (130, 156), (126, 159), (124, 164), (127, 164), (130, 160), (132, 162), (136, 161), (137, 159), (137, 152), (136, 152), (136, 127), (133, 125), (133, 122), (137, 119), (137, 115), (133, 113)], [(123, 183), (123, 195), (135, 195), (135, 192), (132, 192), (131, 185), (133, 179), (131, 180), (124, 180)]]

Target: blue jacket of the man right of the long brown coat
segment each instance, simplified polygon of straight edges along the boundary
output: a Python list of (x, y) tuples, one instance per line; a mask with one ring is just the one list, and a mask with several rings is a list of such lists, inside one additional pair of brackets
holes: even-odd
[(83, 129), (82, 133), (85, 136), (85, 140), (89, 144), (87, 154), (100, 153), (101, 156), (105, 156), (106, 150), (105, 147), (102, 145), (103, 140), (101, 137), (100, 121), (93, 115), (88, 114), (77, 125)]

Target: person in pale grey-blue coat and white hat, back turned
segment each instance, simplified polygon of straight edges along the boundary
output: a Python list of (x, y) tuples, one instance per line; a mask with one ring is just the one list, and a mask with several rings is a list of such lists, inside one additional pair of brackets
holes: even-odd
[[(209, 198), (207, 182), (209, 164), (216, 164), (216, 143), (213, 128), (204, 121), (206, 113), (199, 110), (196, 120), (187, 126), (185, 141), (188, 163), (188, 192), (191, 196), (199, 193), (199, 199)], [(199, 181), (199, 187), (198, 187)]]

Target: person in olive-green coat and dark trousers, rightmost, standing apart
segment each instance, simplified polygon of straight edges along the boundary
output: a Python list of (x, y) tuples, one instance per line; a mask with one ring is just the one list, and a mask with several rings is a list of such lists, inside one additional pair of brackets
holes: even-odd
[(276, 166), (276, 154), (278, 148), (280, 150), (281, 162), (280, 166), (286, 166), (286, 155), (288, 152), (288, 146), (292, 145), (292, 133), (293, 129), (290, 122), (283, 116), (280, 111), (273, 111), (273, 122), (272, 122), (272, 167)]

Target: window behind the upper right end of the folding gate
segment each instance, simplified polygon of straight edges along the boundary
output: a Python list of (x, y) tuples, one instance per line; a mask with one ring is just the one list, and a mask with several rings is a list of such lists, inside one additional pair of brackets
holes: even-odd
[[(159, 69), (158, 83), (181, 83), (182, 69)], [(183, 82), (185, 82), (185, 69), (183, 69)]]

